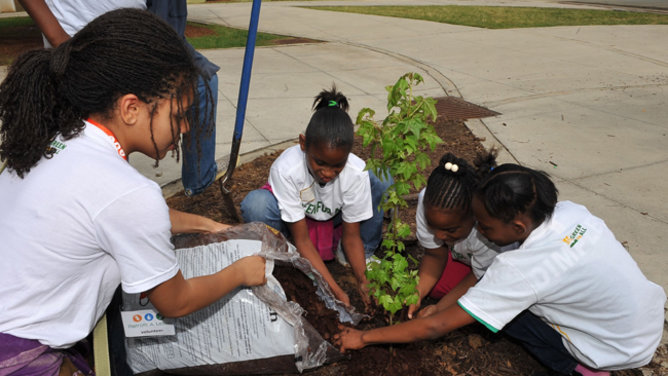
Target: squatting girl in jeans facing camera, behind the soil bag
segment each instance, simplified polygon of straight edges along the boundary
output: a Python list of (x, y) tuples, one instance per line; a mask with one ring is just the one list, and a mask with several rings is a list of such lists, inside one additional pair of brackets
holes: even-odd
[(334, 87), (323, 90), (313, 107), (299, 145), (276, 159), (268, 185), (244, 198), (241, 214), (246, 222), (264, 222), (292, 235), (299, 253), (322, 274), (334, 296), (349, 305), (348, 295), (323, 262), (334, 259), (340, 238), (362, 298), (368, 301), (366, 259), (380, 244), (383, 212), (378, 205), (392, 182), (365, 171), (364, 161), (350, 152), (353, 123), (343, 94)]

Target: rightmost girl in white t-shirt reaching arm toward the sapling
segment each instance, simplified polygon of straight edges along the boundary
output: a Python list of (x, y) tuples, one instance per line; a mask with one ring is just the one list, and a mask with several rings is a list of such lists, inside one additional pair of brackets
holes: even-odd
[(514, 164), (481, 183), (473, 211), (490, 241), (519, 247), (499, 254), (457, 305), (394, 327), (348, 329), (337, 339), (342, 350), (435, 338), (477, 320), (564, 375), (609, 375), (650, 362), (666, 295), (601, 219), (557, 202), (547, 174)]

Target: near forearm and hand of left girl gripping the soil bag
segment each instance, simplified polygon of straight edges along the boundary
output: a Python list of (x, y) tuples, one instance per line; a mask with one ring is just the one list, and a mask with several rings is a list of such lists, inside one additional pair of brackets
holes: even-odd
[(248, 256), (210, 275), (184, 279), (179, 271), (171, 279), (148, 293), (155, 308), (165, 317), (180, 317), (202, 309), (240, 286), (257, 286), (267, 282), (265, 260)]

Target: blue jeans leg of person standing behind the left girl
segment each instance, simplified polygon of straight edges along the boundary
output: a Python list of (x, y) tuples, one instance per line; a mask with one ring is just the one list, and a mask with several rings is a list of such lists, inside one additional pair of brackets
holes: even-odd
[[(214, 73), (209, 79), (211, 88), (211, 104), (207, 102), (206, 84), (200, 76), (197, 82), (197, 93), (199, 95), (199, 118), (200, 124), (205, 124), (200, 132), (192, 132), (191, 135), (198, 139), (191, 139), (189, 143), (183, 143), (183, 164), (181, 166), (181, 181), (185, 188), (186, 196), (202, 193), (216, 179), (216, 107), (218, 104), (218, 76)], [(213, 119), (208, 118), (212, 111)], [(211, 122), (213, 124), (211, 124)], [(198, 126), (197, 124), (193, 127)], [(206, 129), (211, 127), (209, 133)], [(193, 129), (194, 130), (194, 129)], [(187, 144), (187, 145), (186, 145)], [(200, 153), (197, 153), (199, 144)]]

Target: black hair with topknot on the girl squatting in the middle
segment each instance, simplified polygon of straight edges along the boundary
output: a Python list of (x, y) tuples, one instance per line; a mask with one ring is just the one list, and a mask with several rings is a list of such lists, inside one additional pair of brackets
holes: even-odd
[(315, 112), (304, 132), (305, 146), (322, 145), (330, 148), (353, 147), (354, 124), (348, 115), (348, 98), (336, 90), (321, 91), (313, 101)]

